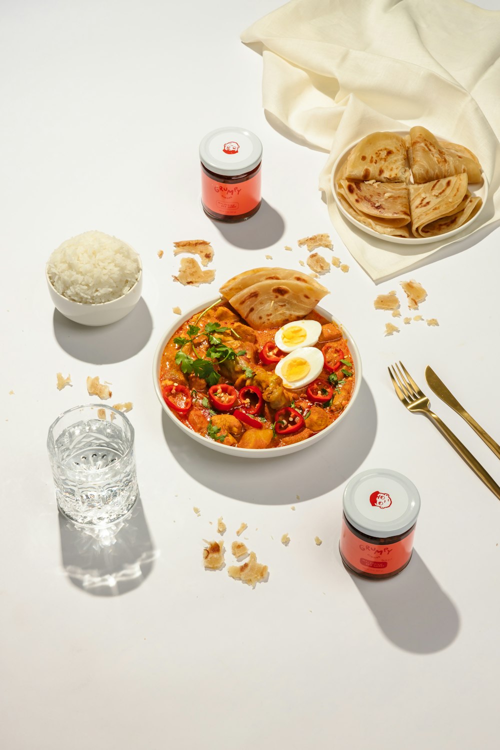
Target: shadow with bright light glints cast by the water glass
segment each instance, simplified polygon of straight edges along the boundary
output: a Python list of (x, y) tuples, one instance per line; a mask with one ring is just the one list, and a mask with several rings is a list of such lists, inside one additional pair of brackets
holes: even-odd
[(78, 526), (59, 512), (59, 531), (67, 577), (94, 596), (118, 596), (136, 589), (157, 557), (140, 497), (126, 517), (100, 529)]

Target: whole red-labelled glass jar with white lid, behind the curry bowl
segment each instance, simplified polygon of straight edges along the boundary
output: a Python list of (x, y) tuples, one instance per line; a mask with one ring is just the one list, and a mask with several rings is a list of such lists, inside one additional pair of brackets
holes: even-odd
[(262, 143), (243, 127), (212, 130), (199, 144), (202, 206), (219, 221), (244, 221), (259, 211)]

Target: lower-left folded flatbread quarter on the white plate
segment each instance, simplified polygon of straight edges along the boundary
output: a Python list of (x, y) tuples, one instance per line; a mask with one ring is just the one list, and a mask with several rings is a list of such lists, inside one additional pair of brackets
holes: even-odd
[(404, 182), (355, 182), (340, 180), (338, 192), (359, 214), (382, 220), (387, 226), (410, 221), (408, 185)]

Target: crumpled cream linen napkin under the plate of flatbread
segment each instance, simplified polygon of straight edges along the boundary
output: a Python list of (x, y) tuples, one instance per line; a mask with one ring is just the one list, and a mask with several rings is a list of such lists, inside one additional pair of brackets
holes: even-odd
[[(337, 233), (374, 281), (421, 265), (450, 243), (473, 245), (481, 226), (500, 220), (500, 11), (463, 0), (292, 0), (241, 40), (262, 52), (270, 121), (329, 151), (319, 188)], [(350, 143), (415, 124), (471, 148), (490, 195), (470, 229), (407, 248), (344, 220), (330, 175)]]

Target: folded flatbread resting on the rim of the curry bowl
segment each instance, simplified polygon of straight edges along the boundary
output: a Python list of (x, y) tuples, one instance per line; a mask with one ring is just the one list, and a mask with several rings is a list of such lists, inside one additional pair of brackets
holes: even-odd
[(290, 269), (251, 269), (234, 276), (220, 294), (253, 329), (275, 328), (309, 314), (328, 289)]

